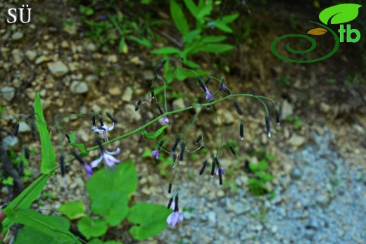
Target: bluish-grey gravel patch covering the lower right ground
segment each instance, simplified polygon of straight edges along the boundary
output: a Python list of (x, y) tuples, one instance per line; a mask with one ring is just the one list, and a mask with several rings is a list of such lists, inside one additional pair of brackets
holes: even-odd
[[(332, 150), (329, 129), (290, 155), (291, 179), (279, 179), (272, 200), (245, 191), (222, 197), (184, 181), (179, 193), (184, 221), (160, 234), (158, 243), (366, 243), (365, 172), (349, 167)], [(239, 185), (240, 179), (236, 180)], [(241, 187), (241, 186), (239, 186)], [(224, 194), (224, 195), (225, 195)], [(187, 209), (192, 211), (189, 212)], [(150, 242), (151, 243), (151, 242)]]

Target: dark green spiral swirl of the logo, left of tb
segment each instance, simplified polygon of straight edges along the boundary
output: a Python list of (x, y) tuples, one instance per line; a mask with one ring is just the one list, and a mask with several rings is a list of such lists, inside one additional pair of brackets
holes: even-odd
[[(313, 22), (313, 21), (310, 21), (310, 22)], [(286, 60), (286, 61), (294, 62), (294, 63), (313, 63), (313, 62), (317, 62), (317, 61), (320, 61), (320, 60), (324, 60), (325, 58), (329, 58), (330, 56), (332, 56), (339, 48), (339, 37), (336, 35), (336, 32), (334, 32), (332, 29), (327, 27), (327, 25), (322, 25), (322, 24), (316, 23), (316, 22), (313, 22), (313, 23), (324, 27), (325, 29), (327, 29), (329, 32), (331, 32), (333, 34), (334, 41), (335, 41), (334, 48), (326, 56), (323, 56), (323, 57), (320, 57), (320, 58), (315, 58), (315, 59), (310, 59), (310, 60), (296, 60), (296, 59), (286, 58), (286, 57), (282, 56), (281, 54), (279, 54), (276, 51), (277, 42), (281, 41), (282, 39), (287, 38), (287, 37), (301, 37), (301, 38), (308, 39), (311, 42), (311, 46), (310, 46), (309, 49), (301, 50), (301, 51), (291, 49), (290, 44), (287, 44), (286, 45), (287, 51), (289, 51), (291, 53), (308, 53), (310, 51), (313, 51), (315, 49), (315, 47), (317, 46), (317, 44), (316, 44), (315, 40), (312, 37), (306, 36), (305, 34), (285, 34), (282, 37), (278, 37), (277, 39), (274, 39), (274, 41), (272, 42), (272, 45), (271, 45), (272, 53), (275, 56), (277, 56), (277, 58), (281, 58), (282, 60)]]

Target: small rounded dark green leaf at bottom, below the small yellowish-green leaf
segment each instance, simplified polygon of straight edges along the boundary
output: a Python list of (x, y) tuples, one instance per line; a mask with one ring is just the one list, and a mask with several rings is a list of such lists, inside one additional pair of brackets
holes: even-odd
[(103, 236), (108, 225), (103, 219), (92, 219), (91, 217), (83, 217), (77, 222), (77, 229), (87, 238)]

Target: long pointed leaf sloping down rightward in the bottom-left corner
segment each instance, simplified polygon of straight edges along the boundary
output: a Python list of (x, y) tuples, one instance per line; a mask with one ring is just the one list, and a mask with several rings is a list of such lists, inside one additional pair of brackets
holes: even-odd
[(32, 226), (46, 235), (60, 240), (61, 243), (80, 243), (68, 229), (68, 220), (61, 216), (48, 216), (27, 208), (18, 208), (7, 215), (9, 219), (16, 223)]

